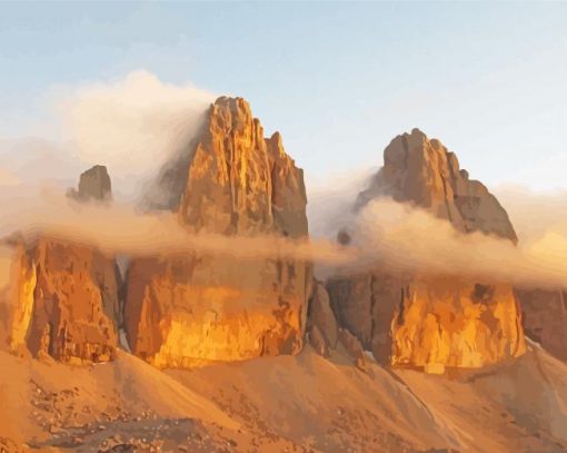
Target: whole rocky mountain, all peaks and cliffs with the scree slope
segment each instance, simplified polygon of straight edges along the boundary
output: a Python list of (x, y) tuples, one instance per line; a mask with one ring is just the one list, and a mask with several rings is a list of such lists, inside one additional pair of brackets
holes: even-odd
[[(439, 140), (414, 129), (384, 160), (355, 210), (390, 197), (464, 237), (518, 242)], [(148, 209), (200, 240), (308, 239), (302, 171), (241, 98), (210, 106), (152, 190)], [(107, 169), (84, 171), (68, 195), (106, 209)], [(10, 244), (1, 452), (567, 451), (563, 294), (538, 304), (558, 293), (427, 269), (321, 280), (311, 263), (228, 252), (127, 257), (122, 282), (96, 247), (47, 235)]]

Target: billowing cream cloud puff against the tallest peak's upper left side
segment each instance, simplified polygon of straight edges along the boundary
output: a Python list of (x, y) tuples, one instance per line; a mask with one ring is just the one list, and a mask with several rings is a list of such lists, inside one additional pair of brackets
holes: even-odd
[[(107, 165), (119, 185), (155, 174), (197, 134), (215, 96), (147, 71), (74, 88), (59, 100), (64, 138), (89, 165)], [(131, 188), (131, 187), (129, 187)]]

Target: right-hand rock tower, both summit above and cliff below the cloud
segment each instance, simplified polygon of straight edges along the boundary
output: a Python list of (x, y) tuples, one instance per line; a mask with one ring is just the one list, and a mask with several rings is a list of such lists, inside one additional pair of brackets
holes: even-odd
[[(359, 195), (357, 207), (379, 196), (427, 208), (462, 233), (479, 230), (517, 242), (498, 200), (459, 169), (452, 152), (417, 129), (386, 148), (384, 167)], [(374, 272), (331, 278), (328, 290), (339, 323), (381, 362), (442, 372), (525, 351), (520, 311), (509, 285)]]

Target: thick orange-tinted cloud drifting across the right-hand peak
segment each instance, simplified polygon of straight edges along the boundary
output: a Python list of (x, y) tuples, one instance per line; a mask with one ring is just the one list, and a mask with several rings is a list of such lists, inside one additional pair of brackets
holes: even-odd
[(429, 211), (389, 198), (370, 201), (352, 227), (357, 263), (347, 272), (388, 272), (511, 283), (520, 287), (567, 288), (567, 229), (541, 226), (528, 243), (483, 233), (462, 234)]

